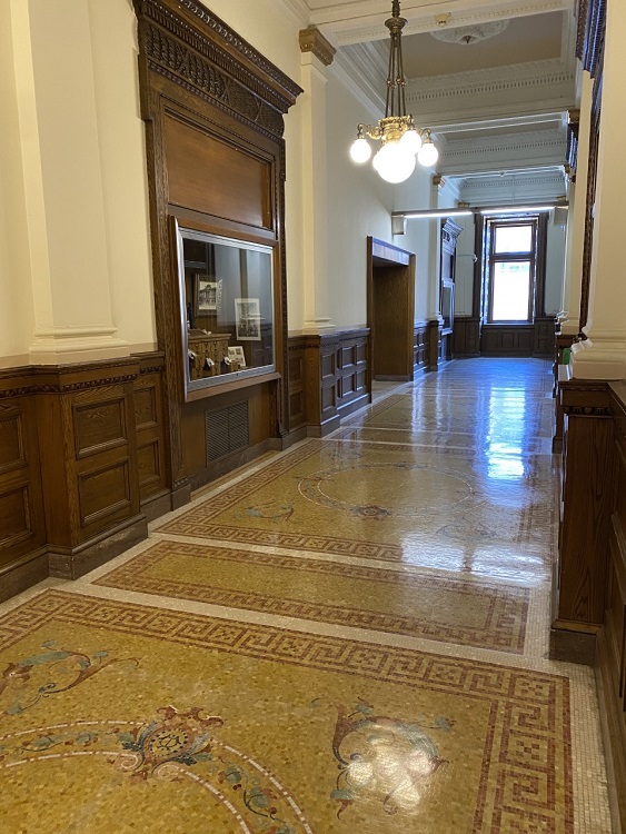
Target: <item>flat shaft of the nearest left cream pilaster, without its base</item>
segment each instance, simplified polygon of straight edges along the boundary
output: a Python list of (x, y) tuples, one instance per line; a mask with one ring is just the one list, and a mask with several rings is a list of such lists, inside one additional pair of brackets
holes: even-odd
[(51, 289), (51, 304), (44, 305), (46, 278), (33, 274), (36, 325), (108, 325), (102, 159), (88, 7), (72, 0), (29, 0), (29, 8)]

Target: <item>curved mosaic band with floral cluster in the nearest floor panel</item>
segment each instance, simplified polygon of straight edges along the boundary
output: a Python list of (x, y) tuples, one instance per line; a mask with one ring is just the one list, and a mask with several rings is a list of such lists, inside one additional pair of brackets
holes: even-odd
[[(0, 771), (80, 757), (115, 768), (129, 783), (191, 783), (219, 806), (228, 831), (311, 834), (287, 791), (258, 762), (220, 742), (219, 716), (201, 707), (162, 707), (151, 721), (83, 721), (0, 737)], [(102, 777), (107, 778), (106, 772)], [(208, 812), (208, 808), (207, 808)]]

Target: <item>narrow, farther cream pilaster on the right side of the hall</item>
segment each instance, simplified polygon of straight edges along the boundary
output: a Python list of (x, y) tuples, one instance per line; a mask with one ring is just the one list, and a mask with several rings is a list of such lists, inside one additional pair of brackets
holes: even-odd
[(589, 73), (583, 71), (580, 85), (580, 121), (578, 125), (578, 163), (576, 168), (576, 183), (569, 183), (568, 192), (569, 211), (567, 212), (567, 242), (563, 276), (563, 315), (560, 317), (560, 331), (572, 336), (576, 336), (580, 330), (580, 284), (583, 278), (593, 88), (594, 82)]

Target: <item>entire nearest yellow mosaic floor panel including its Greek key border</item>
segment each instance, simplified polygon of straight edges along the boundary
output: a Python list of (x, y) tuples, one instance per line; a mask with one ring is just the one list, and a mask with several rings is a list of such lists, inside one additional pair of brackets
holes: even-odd
[(2, 834), (574, 834), (559, 675), (60, 590), (0, 646)]

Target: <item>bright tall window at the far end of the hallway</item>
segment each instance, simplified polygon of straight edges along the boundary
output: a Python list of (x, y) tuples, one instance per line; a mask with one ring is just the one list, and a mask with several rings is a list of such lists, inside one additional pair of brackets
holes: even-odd
[(488, 324), (534, 320), (537, 226), (537, 217), (487, 220), (485, 319)]

